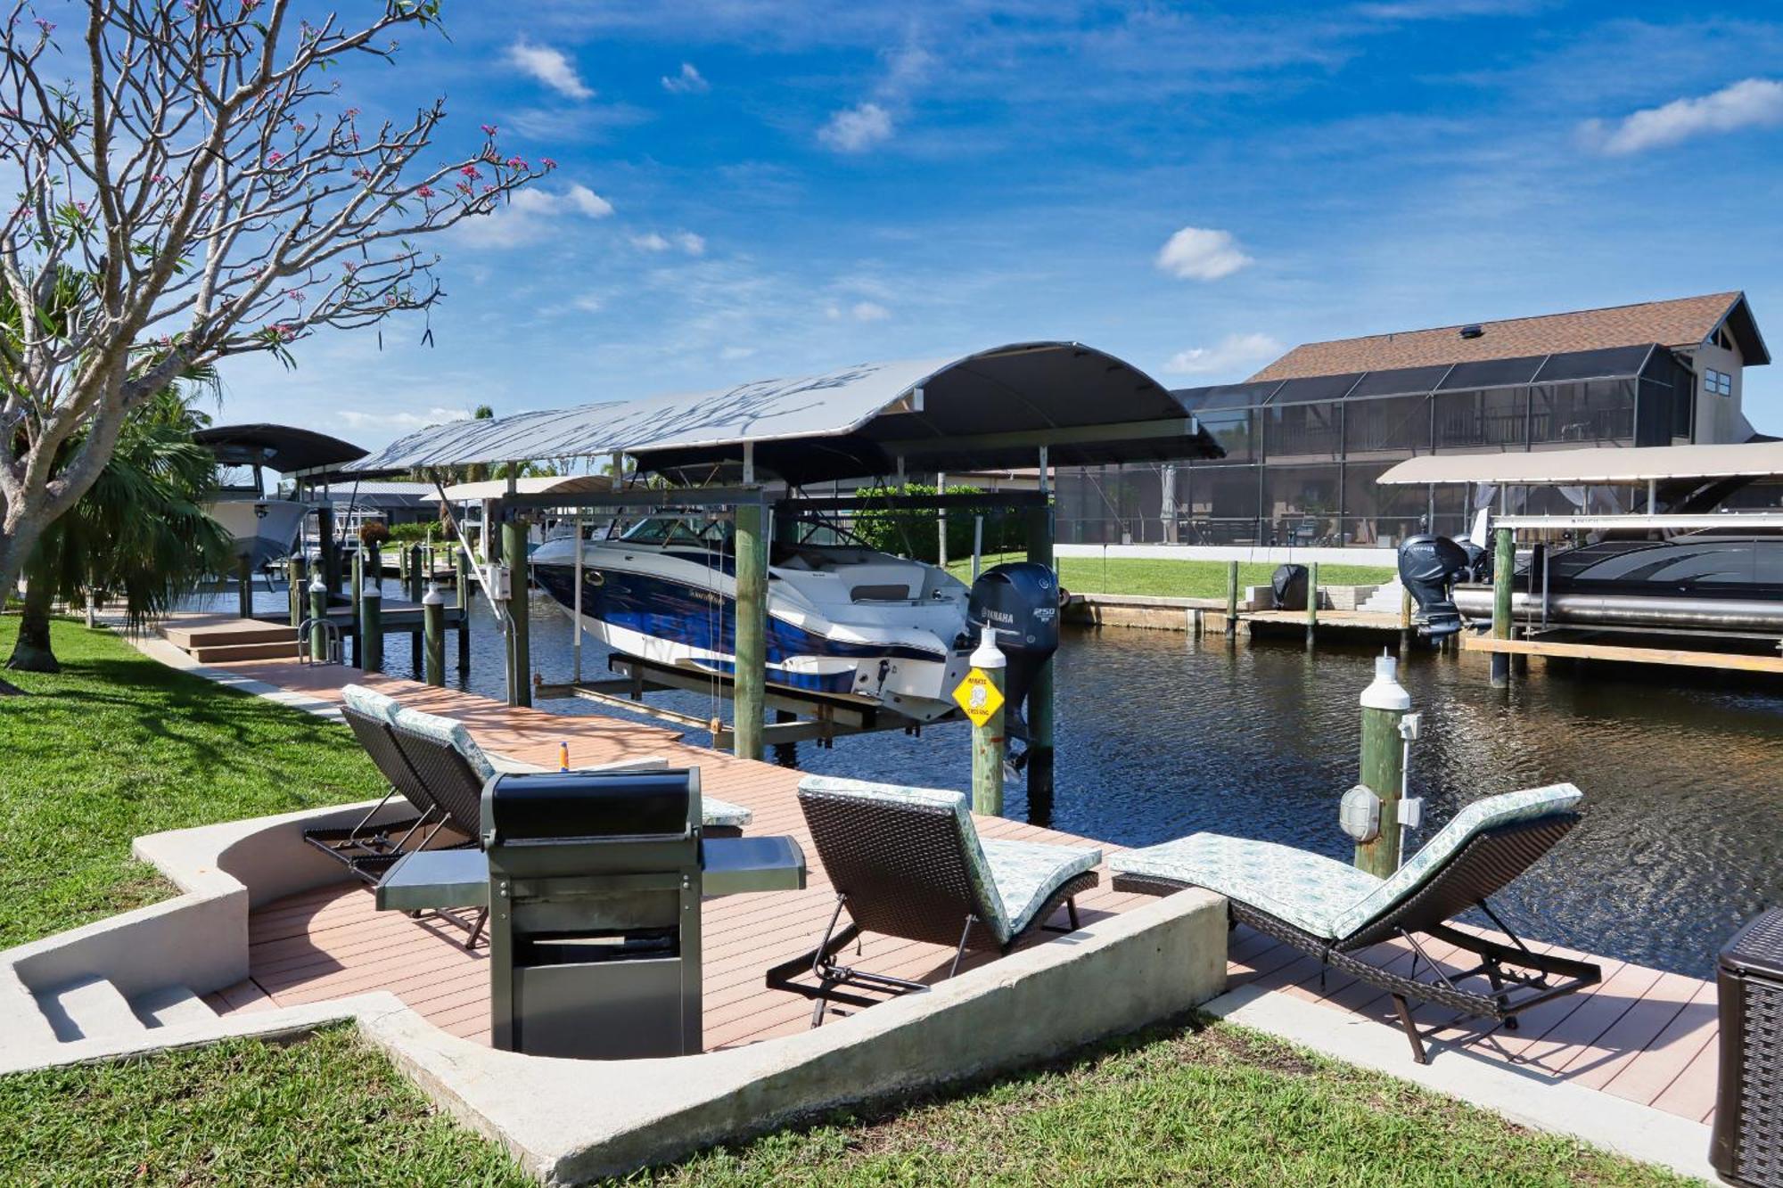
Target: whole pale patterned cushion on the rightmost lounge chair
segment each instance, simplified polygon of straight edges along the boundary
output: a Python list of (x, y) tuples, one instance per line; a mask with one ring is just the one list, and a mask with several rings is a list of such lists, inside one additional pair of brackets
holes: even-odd
[(1467, 838), (1498, 826), (1569, 812), (1583, 794), (1571, 783), (1487, 796), (1462, 808), (1391, 878), (1275, 842), (1195, 833), (1114, 854), (1122, 874), (1205, 887), (1294, 928), (1341, 940), (1412, 895)]

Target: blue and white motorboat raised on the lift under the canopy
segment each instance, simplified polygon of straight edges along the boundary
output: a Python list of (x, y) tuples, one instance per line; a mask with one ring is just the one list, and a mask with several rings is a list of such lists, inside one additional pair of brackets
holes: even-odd
[[(859, 699), (918, 722), (954, 710), (972, 667), (968, 589), (938, 565), (881, 553), (829, 526), (768, 553), (767, 681)], [(576, 540), (531, 557), (533, 578), (576, 605)], [(619, 653), (731, 674), (736, 551), (722, 519), (658, 516), (581, 542), (581, 624)]]

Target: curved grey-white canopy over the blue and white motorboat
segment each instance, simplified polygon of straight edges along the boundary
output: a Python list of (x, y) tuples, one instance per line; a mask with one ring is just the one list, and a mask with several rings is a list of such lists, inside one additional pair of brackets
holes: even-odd
[(918, 471), (1220, 457), (1214, 439), (1132, 364), (1079, 342), (1023, 342), (915, 362), (859, 364), (736, 387), (453, 421), (357, 471), (629, 453), (683, 476), (735, 467), (744, 446), (790, 483)]

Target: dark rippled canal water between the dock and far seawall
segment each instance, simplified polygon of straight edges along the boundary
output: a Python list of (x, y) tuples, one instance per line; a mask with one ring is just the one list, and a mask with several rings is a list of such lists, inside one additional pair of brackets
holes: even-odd
[[(474, 624), (464, 680), (448, 639), (448, 680), (503, 697), (501, 637), (481, 601)], [(1031, 804), (1013, 780), (1006, 812), (1122, 846), (1214, 829), (1348, 858), (1337, 799), (1357, 781), (1357, 694), (1376, 651), (1066, 630), (1056, 660), (1057, 790), (1050, 804)], [(542, 596), (531, 605), (531, 653), (546, 680), (569, 678), (569, 621)], [(385, 655), (390, 674), (412, 674), (407, 637), (387, 640)], [(1494, 903), (1524, 935), (1703, 978), (1740, 920), (1783, 903), (1783, 690), (1532, 664), (1507, 694), (1487, 685), (1483, 656), (1423, 649), (1400, 669), (1425, 715), (1410, 785), (1430, 822), (1407, 851), (1482, 796), (1560, 780), (1585, 790), (1583, 824)], [(583, 672), (604, 671), (606, 651), (587, 640)], [(729, 714), (704, 694), (651, 701), (701, 719)], [(606, 712), (581, 701), (540, 708)], [(972, 778), (963, 724), (838, 738), (831, 749), (799, 744), (779, 758), (941, 788), (968, 788)]]

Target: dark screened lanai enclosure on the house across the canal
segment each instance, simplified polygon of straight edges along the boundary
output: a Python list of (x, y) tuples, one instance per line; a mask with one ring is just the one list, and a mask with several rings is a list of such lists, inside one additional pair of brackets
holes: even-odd
[(1225, 457), (1059, 467), (1059, 542), (1389, 548), (1457, 535), (1478, 492), (1380, 487), (1380, 474), (1425, 453), (1689, 442), (1696, 376), (1647, 344), (1171, 394)]

